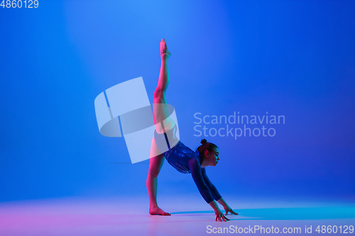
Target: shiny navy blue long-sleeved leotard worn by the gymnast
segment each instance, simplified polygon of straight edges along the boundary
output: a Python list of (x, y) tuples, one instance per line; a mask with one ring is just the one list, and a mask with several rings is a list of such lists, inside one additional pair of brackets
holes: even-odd
[(196, 150), (195, 152), (190, 147), (185, 146), (176, 137), (176, 125), (171, 130), (163, 134), (158, 134), (154, 131), (154, 139), (159, 150), (163, 149), (163, 143), (168, 144), (169, 150), (163, 152), (165, 159), (178, 172), (187, 174), (191, 173), (197, 188), (199, 189), (204, 201), (210, 203), (214, 200), (219, 200), (222, 196), (217, 191), (217, 188), (209, 181), (206, 169), (201, 168), (201, 156)]

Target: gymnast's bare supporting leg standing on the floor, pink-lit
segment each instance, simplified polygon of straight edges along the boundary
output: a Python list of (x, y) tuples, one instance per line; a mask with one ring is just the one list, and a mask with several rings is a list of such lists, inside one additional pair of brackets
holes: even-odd
[(149, 213), (151, 215), (170, 215), (169, 213), (166, 213), (164, 210), (159, 208), (156, 201), (158, 175), (161, 167), (163, 167), (165, 157), (163, 154), (159, 154), (158, 156), (153, 157), (157, 153), (156, 150), (154, 150), (155, 148), (156, 145), (153, 137), (151, 144), (151, 159), (149, 160), (149, 170), (146, 183), (149, 196)]

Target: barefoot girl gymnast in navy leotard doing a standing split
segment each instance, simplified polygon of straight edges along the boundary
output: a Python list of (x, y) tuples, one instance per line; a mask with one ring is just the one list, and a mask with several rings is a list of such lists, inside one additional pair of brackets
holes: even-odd
[[(214, 209), (216, 221), (229, 220), (224, 216), (222, 211), (217, 206), (220, 203), (226, 215), (228, 213), (238, 215), (232, 210), (219, 194), (217, 188), (209, 181), (205, 167), (215, 167), (219, 161), (219, 150), (217, 145), (203, 139), (202, 145), (194, 152), (189, 147), (185, 146), (178, 137), (176, 137), (177, 127), (172, 118), (168, 116), (166, 90), (169, 84), (168, 59), (171, 53), (169, 52), (164, 38), (160, 41), (160, 74), (158, 86), (154, 91), (153, 97), (153, 120), (155, 131), (151, 145), (151, 159), (149, 162), (149, 170), (147, 177), (147, 189), (149, 196), (149, 213), (151, 215), (170, 215), (158, 207), (156, 201), (158, 174), (163, 166), (164, 159), (167, 159), (178, 172), (187, 174), (191, 173), (192, 179), (200, 191), (204, 201)], [(164, 150), (163, 143), (168, 145), (168, 151), (155, 156), (157, 153), (156, 147), (159, 150)], [(155, 157), (153, 157), (155, 156)]]

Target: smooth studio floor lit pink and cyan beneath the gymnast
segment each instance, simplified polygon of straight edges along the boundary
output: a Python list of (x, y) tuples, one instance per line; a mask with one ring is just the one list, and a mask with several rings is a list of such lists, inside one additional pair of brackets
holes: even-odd
[(160, 198), (172, 215), (149, 215), (147, 196), (0, 203), (0, 235), (355, 235), (351, 201), (242, 198), (229, 201), (239, 215), (216, 222), (203, 199)]

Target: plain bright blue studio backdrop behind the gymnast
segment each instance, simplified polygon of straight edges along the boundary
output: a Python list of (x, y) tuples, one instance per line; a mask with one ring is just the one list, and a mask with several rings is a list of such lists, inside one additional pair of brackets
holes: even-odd
[[(100, 135), (94, 99), (143, 77), (153, 103), (162, 38), (172, 53), (167, 99), (192, 149), (204, 138), (195, 113), (285, 116), (266, 125), (273, 137), (205, 137), (219, 146), (207, 172), (222, 196), (354, 199), (354, 9), (354, 1), (1, 7), (0, 201), (146, 195), (148, 206), (148, 160), (130, 164), (124, 138)], [(190, 174), (165, 162), (158, 198), (169, 194), (203, 201)]]

